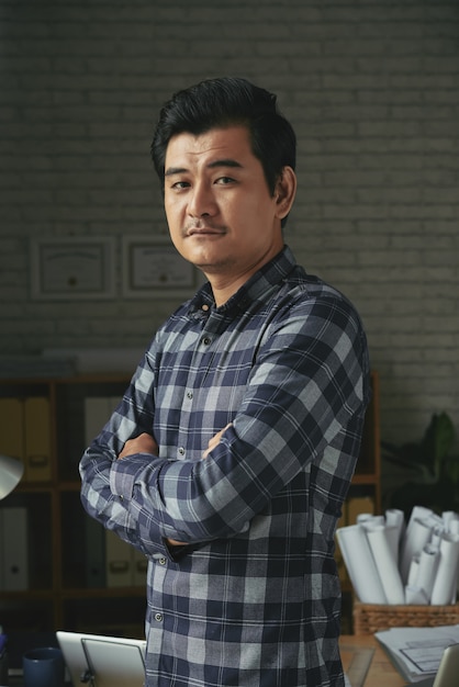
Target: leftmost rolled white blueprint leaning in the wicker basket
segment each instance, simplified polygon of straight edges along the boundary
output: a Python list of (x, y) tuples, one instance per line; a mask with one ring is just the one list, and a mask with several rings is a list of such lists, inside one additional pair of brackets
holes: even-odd
[(357, 596), (362, 604), (387, 604), (378, 568), (361, 525), (336, 530), (343, 559)]

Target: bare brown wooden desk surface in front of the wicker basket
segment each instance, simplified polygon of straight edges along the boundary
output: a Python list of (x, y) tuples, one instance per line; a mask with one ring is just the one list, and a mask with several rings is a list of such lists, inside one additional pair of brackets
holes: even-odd
[[(372, 634), (344, 634), (339, 640), (344, 669), (347, 672), (358, 649), (373, 649), (365, 687), (404, 687), (406, 679), (394, 667), (388, 654)], [(354, 687), (354, 685), (352, 685)]]

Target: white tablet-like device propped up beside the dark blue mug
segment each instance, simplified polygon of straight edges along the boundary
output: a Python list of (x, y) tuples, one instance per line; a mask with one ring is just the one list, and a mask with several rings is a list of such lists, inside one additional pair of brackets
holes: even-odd
[(56, 632), (74, 687), (144, 687), (145, 640)]

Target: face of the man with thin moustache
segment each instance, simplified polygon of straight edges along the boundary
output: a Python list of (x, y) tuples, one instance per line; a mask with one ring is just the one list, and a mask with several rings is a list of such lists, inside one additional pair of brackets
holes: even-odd
[(282, 249), (280, 221), (288, 211), (277, 196), (245, 126), (170, 139), (165, 209), (171, 239), (213, 285), (244, 283)]

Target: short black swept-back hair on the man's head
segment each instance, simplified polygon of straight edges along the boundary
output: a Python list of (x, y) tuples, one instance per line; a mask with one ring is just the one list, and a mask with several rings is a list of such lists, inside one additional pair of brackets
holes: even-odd
[(204, 134), (212, 128), (247, 126), (251, 150), (262, 166), (270, 193), (282, 169), (295, 168), (296, 137), (280, 113), (277, 97), (246, 79), (208, 79), (178, 91), (163, 106), (152, 143), (152, 158), (164, 188), (169, 140), (182, 133)]

